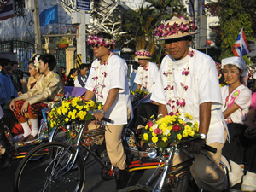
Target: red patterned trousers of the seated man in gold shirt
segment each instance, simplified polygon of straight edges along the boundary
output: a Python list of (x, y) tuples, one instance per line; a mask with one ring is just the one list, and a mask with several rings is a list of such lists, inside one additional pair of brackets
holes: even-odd
[(27, 112), (25, 115), (21, 114), (21, 108), (25, 101), (17, 101), (15, 102), (15, 117), (20, 123), (25, 123), (26, 119), (37, 119), (38, 117), (42, 117), (42, 110), (44, 108), (48, 108), (48, 105), (45, 103), (36, 103), (33, 105), (28, 104)]

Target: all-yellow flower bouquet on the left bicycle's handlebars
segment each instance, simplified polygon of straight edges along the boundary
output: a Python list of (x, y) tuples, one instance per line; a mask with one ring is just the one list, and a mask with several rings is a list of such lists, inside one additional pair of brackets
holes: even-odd
[(49, 113), (50, 127), (61, 127), (68, 122), (76, 120), (90, 120), (94, 119), (93, 115), (88, 113), (89, 111), (99, 110), (102, 108), (100, 103), (93, 101), (85, 102), (84, 97), (69, 97), (67, 100), (63, 100), (61, 105), (57, 105), (52, 108)]

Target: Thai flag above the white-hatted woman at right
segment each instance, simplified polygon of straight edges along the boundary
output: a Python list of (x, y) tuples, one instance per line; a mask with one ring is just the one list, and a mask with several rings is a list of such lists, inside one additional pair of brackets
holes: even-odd
[(247, 43), (247, 38), (245, 37), (242, 28), (232, 49), (235, 56), (247, 55), (252, 51), (249, 47), (249, 44)]

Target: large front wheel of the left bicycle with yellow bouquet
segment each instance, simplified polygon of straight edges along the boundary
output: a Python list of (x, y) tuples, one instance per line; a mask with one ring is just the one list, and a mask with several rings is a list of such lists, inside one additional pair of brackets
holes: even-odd
[[(15, 172), (15, 191), (82, 191), (85, 169), (80, 154), (65, 143), (33, 148)], [(39, 160), (31, 160), (40, 155)], [(74, 168), (75, 167), (75, 168)]]

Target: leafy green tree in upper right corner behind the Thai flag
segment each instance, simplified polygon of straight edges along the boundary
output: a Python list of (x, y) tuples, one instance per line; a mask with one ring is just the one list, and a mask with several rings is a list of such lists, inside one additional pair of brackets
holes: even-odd
[(220, 36), (220, 59), (234, 56), (232, 47), (241, 28), (243, 28), (247, 39), (256, 37), (254, 0), (218, 0), (218, 3), (207, 4), (206, 8), (212, 15), (219, 16), (220, 27), (216, 30), (216, 37)]

